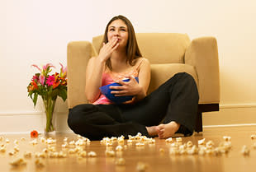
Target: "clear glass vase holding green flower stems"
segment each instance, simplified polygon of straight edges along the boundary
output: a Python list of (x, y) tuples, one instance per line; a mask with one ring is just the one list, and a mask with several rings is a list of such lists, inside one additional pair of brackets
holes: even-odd
[(55, 103), (56, 100), (53, 100), (51, 98), (44, 99), (44, 104), (45, 104), (45, 114), (46, 114), (46, 127), (45, 127), (45, 132), (53, 132), (55, 131), (54, 125), (53, 125), (53, 114), (55, 110)]

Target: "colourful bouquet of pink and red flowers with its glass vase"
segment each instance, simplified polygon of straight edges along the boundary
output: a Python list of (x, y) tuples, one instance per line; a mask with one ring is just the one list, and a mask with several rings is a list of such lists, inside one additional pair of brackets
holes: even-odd
[(38, 95), (44, 101), (46, 114), (45, 132), (55, 130), (52, 119), (57, 97), (60, 96), (64, 101), (67, 99), (67, 67), (64, 68), (61, 63), (59, 64), (61, 66), (60, 72), (55, 72), (52, 75), (50, 75), (51, 67), (54, 66), (51, 63), (42, 68), (33, 64), (32, 67), (36, 67), (40, 72), (32, 77), (30, 84), (27, 86), (28, 96), (33, 100), (34, 107), (36, 106)]

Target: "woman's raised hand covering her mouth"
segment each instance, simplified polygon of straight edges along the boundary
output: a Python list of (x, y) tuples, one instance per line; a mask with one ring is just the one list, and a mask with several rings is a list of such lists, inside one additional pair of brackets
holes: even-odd
[(98, 58), (102, 62), (106, 62), (107, 59), (111, 57), (111, 53), (113, 53), (113, 51), (115, 51), (118, 46), (118, 39), (113, 37), (107, 44), (103, 43)]

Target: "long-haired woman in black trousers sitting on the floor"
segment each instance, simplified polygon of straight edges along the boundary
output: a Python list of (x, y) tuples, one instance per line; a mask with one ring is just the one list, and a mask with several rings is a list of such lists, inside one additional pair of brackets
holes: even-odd
[[(122, 81), (124, 77), (130, 81)], [(149, 61), (142, 58), (132, 24), (125, 16), (113, 17), (107, 24), (102, 49), (88, 62), (85, 94), (92, 104), (70, 109), (69, 128), (92, 140), (137, 132), (159, 138), (172, 137), (176, 132), (192, 135), (199, 99), (193, 78), (178, 73), (146, 95), (149, 81)], [(111, 86), (115, 90), (111, 94), (134, 98), (124, 104), (108, 100), (99, 88), (112, 82), (121, 86)]]

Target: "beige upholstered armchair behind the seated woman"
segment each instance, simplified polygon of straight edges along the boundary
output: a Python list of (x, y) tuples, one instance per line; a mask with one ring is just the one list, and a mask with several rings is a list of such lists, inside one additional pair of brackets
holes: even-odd
[[(149, 93), (177, 72), (187, 72), (197, 82), (199, 105), (196, 132), (202, 131), (201, 113), (218, 111), (220, 103), (219, 59), (216, 39), (201, 37), (190, 41), (186, 34), (139, 33), (136, 38), (140, 51), (151, 63)], [(68, 44), (68, 103), (88, 103), (84, 94), (88, 59), (97, 55), (102, 35), (88, 41)]]

